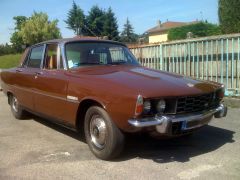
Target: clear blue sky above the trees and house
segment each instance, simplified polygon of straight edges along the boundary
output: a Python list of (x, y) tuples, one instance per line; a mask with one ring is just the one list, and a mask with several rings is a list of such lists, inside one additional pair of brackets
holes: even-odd
[[(218, 23), (218, 0), (75, 0), (87, 14), (93, 5), (113, 9), (119, 30), (128, 17), (136, 33), (140, 34), (156, 25), (157, 20), (194, 21), (208, 20)], [(14, 16), (31, 16), (33, 11), (46, 12), (50, 20), (58, 19), (63, 37), (74, 34), (66, 28), (64, 20), (72, 7), (72, 0), (0, 0), (0, 44), (9, 42), (14, 28)]]

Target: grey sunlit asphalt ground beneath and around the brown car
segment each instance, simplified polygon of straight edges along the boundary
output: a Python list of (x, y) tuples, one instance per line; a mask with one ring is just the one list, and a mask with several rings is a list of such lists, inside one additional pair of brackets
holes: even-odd
[(240, 179), (240, 109), (189, 138), (129, 136), (121, 158), (107, 162), (70, 130), (14, 119), (0, 92), (0, 179)]

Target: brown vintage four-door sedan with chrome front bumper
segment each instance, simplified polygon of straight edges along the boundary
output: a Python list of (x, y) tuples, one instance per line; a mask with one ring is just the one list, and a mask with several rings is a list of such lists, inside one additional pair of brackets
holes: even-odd
[(224, 87), (142, 67), (121, 43), (61, 39), (26, 49), (1, 73), (13, 115), (26, 111), (84, 130), (95, 156), (114, 158), (124, 134), (180, 136), (224, 117)]

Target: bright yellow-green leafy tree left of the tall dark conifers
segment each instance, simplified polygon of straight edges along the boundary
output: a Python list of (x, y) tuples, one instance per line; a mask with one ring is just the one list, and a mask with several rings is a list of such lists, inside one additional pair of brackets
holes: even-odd
[(46, 13), (34, 12), (33, 15), (21, 25), (19, 35), (25, 44), (35, 44), (41, 41), (60, 38), (57, 27), (58, 20), (50, 21)]

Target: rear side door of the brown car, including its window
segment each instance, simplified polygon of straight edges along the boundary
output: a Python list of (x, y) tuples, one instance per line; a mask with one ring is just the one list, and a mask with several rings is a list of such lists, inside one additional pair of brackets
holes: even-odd
[(35, 75), (40, 69), (43, 52), (44, 45), (31, 47), (25, 52), (22, 65), (17, 67), (14, 73), (14, 93), (20, 104), (29, 110), (34, 110)]

